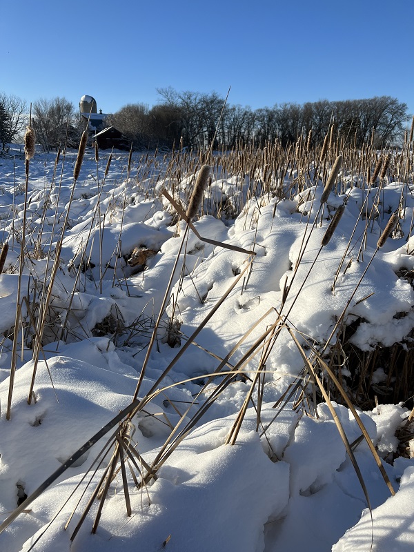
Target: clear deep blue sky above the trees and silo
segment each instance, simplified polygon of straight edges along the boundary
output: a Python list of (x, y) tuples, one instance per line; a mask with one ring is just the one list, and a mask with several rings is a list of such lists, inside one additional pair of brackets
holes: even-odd
[(392, 96), (414, 112), (413, 0), (0, 0), (0, 92), (98, 109), (218, 92), (253, 109)]

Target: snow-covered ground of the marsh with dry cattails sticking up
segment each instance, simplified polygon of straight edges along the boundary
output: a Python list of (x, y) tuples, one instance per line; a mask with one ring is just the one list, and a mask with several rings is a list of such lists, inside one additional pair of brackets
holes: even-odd
[[(0, 158), (0, 235), (9, 245), (0, 275), (0, 550), (412, 551), (414, 460), (397, 457), (395, 436), (410, 397), (358, 411), (388, 460), (394, 495), (351, 410), (332, 403), (371, 518), (328, 404), (312, 404), (302, 356), (317, 366), (315, 355), (337, 342), (338, 319), (358, 322), (350, 343), (361, 355), (411, 339), (410, 186), (385, 177), (370, 187), (344, 171), (320, 208), (321, 181), (297, 193), (292, 170), (281, 199), (266, 193), (260, 170), (254, 180), (217, 163), (195, 233), (162, 192), (186, 210), (200, 164), (180, 174), (177, 154), (172, 162), (135, 153), (128, 170), (128, 153), (115, 152), (104, 177), (108, 152), (96, 162), (89, 149), (73, 189), (76, 155), (57, 164), (35, 155), (26, 213), (24, 160)], [(398, 224), (377, 249), (393, 212)], [(134, 248), (144, 257), (130, 266)], [(344, 368), (341, 377), (351, 389), (355, 374)], [(384, 388), (387, 366), (370, 378)], [(119, 415), (131, 404), (133, 417)], [(108, 473), (103, 497), (93, 495)]]

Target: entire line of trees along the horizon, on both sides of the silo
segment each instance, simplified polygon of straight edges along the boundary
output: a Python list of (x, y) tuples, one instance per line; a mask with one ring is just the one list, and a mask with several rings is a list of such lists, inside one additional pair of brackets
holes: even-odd
[[(135, 149), (236, 148), (264, 146), (276, 139), (286, 146), (302, 135), (322, 144), (331, 126), (346, 141), (362, 146), (373, 139), (377, 148), (400, 139), (408, 120), (406, 103), (389, 96), (346, 101), (282, 103), (252, 110), (225, 104), (216, 92), (179, 92), (157, 89), (159, 103), (149, 108), (130, 103), (106, 117)], [(81, 133), (79, 111), (66, 98), (39, 99), (32, 103), (32, 125), (45, 150), (66, 144), (77, 147)], [(0, 92), (0, 141), (4, 148), (17, 139), (28, 121), (26, 102)]]

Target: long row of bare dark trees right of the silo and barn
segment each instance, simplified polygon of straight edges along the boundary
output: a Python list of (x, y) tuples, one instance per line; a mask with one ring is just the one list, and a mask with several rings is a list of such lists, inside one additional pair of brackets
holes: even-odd
[(263, 146), (276, 139), (286, 146), (307, 137), (312, 130), (314, 144), (322, 144), (332, 124), (339, 135), (357, 147), (373, 135), (376, 147), (394, 143), (404, 132), (408, 120), (406, 103), (389, 96), (370, 99), (320, 100), (282, 103), (272, 108), (252, 110), (248, 106), (224, 106), (224, 99), (213, 92), (178, 92), (161, 88), (161, 101), (149, 109), (136, 103), (124, 106), (108, 119), (137, 147), (172, 144), (215, 148), (240, 145)]

